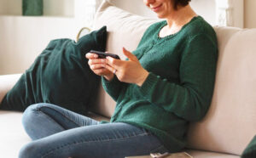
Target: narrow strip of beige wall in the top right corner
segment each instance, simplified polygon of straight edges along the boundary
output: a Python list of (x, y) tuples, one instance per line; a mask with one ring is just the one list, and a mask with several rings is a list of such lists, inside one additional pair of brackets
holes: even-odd
[(256, 0), (244, 0), (244, 27), (256, 28)]

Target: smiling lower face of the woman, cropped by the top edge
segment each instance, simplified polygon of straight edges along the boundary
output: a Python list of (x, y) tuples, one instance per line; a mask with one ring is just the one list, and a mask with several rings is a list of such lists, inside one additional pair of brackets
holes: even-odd
[(172, 0), (143, 0), (159, 18), (166, 18), (174, 11)]

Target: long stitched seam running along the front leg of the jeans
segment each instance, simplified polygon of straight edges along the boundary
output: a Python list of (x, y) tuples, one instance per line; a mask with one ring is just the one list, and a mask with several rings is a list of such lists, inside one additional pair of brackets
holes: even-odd
[(61, 145), (60, 147), (56, 147), (55, 149), (48, 151), (46, 154), (42, 155), (41, 157), (44, 158), (45, 156), (53, 153), (54, 151), (61, 150), (70, 145), (88, 144), (88, 143), (95, 143), (95, 142), (109, 142), (109, 141), (116, 141), (116, 140), (124, 140), (126, 138), (135, 138), (137, 136), (147, 136), (147, 135), (151, 135), (151, 133), (144, 132), (144, 133), (140, 133), (140, 134), (129, 136), (129, 137), (123, 137), (123, 138), (109, 138), (109, 139), (105, 139), (105, 140), (81, 141), (81, 142), (74, 142), (72, 144), (64, 144), (64, 145)]

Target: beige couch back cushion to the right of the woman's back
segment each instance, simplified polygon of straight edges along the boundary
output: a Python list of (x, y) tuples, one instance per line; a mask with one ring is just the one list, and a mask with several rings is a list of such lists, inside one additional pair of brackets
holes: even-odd
[(192, 123), (189, 147), (241, 155), (256, 133), (256, 29), (216, 27), (218, 69), (207, 116)]

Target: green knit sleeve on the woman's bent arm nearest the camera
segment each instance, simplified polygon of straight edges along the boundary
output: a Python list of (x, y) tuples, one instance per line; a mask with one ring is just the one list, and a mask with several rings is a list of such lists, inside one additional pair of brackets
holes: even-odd
[(211, 104), (217, 58), (217, 42), (206, 35), (196, 35), (190, 38), (181, 56), (179, 84), (149, 73), (138, 91), (151, 104), (187, 121), (199, 121)]

